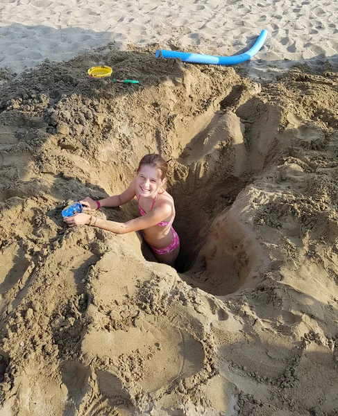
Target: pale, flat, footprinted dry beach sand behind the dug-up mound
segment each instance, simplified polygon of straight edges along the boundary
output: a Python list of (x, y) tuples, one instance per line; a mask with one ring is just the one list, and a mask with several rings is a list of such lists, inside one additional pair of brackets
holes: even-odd
[(109, 42), (234, 55), (265, 28), (267, 43), (246, 67), (272, 78), (300, 60), (337, 64), (337, 17), (337, 0), (3, 0), (0, 67), (21, 73)]

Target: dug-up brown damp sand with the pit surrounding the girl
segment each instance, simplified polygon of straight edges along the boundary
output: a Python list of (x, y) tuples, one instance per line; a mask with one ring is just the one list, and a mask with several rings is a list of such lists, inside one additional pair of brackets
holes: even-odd
[[(3, 80), (1, 415), (337, 415), (337, 71), (101, 52)], [(170, 159), (178, 272), (62, 222), (145, 153)]]

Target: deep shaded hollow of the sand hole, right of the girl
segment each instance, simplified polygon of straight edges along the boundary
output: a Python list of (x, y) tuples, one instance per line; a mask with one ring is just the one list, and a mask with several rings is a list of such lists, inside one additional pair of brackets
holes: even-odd
[(237, 217), (240, 200), (233, 207), (250, 181), (247, 140), (239, 116), (219, 111), (178, 157), (186, 172), (172, 188), (174, 227), (181, 239), (176, 268), (188, 284), (213, 295), (237, 291), (260, 256), (258, 244)]

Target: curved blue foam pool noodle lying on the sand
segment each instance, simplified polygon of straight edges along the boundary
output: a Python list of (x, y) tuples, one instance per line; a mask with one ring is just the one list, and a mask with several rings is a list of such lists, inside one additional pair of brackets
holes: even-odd
[(213, 65), (235, 65), (251, 59), (262, 48), (265, 40), (267, 40), (268, 31), (263, 29), (255, 44), (245, 53), (235, 56), (213, 56), (202, 55), (200, 53), (168, 51), (167, 49), (158, 49), (155, 57), (162, 55), (163, 58), (180, 58), (183, 62), (191, 62), (193, 64), (213, 64)]

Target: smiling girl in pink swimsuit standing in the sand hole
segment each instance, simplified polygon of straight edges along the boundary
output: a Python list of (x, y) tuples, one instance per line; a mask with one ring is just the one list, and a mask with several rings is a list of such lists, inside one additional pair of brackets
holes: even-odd
[(142, 229), (144, 239), (153, 249), (155, 258), (160, 263), (174, 266), (180, 250), (180, 239), (172, 226), (175, 218), (174, 200), (165, 191), (167, 170), (167, 162), (160, 155), (145, 155), (137, 168), (135, 179), (126, 191), (99, 201), (89, 197), (79, 201), (85, 205), (84, 211), (92, 211), (101, 207), (119, 207), (136, 196), (141, 213), (139, 218), (126, 223), (116, 223), (83, 212), (65, 218), (65, 223), (69, 227), (80, 224), (92, 225), (115, 234)]

